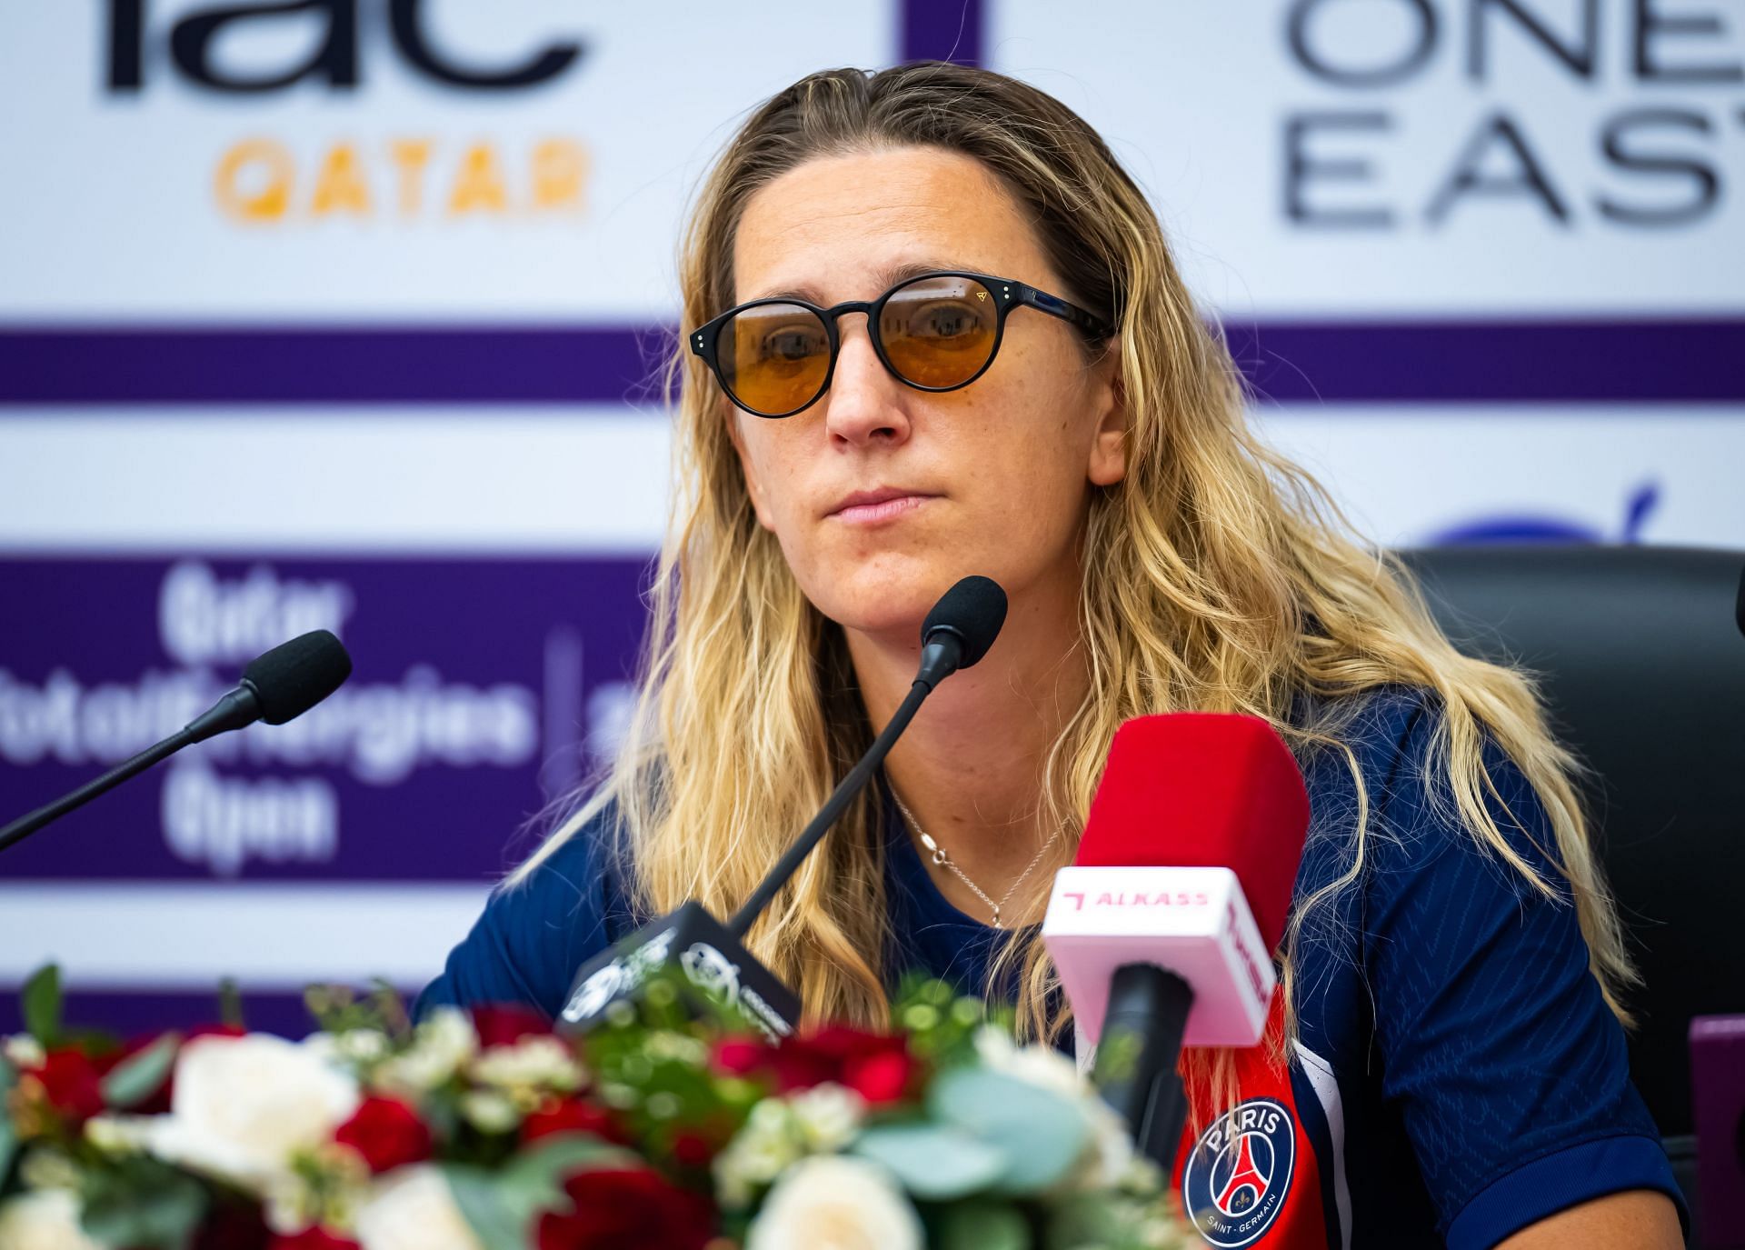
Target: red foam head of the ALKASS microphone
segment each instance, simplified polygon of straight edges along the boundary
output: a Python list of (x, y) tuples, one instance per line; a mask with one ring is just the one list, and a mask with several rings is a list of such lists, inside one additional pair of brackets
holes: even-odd
[(1115, 731), (1080, 868), (1228, 868), (1265, 948), (1284, 936), (1309, 833), (1290, 747), (1256, 716), (1169, 712)]

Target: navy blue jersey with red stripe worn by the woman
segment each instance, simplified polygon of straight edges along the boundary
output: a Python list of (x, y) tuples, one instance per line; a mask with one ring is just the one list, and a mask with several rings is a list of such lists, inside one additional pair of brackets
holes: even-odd
[[(1370, 836), (1351, 889), (1307, 913), (1290, 1067), (1251, 1053), (1235, 1105), (1190, 1128), (1178, 1156), (1174, 1184), (1211, 1245), (1490, 1247), (1625, 1189), (1682, 1205), (1574, 908), (1483, 852), (1445, 796), (1431, 801), (1436, 714), (1417, 691), (1380, 691), (1347, 733)], [(1352, 868), (1358, 807), (1342, 752), (1302, 763), (1312, 824), (1298, 899)], [(1495, 747), (1487, 768), (1511, 845), (1557, 880), (1532, 787)], [(581, 962), (637, 924), (600, 828), (492, 897), (419, 1011), (558, 1013)], [(895, 817), (883, 836), (892, 979), (920, 969), (984, 993), (1000, 931), (941, 896)]]

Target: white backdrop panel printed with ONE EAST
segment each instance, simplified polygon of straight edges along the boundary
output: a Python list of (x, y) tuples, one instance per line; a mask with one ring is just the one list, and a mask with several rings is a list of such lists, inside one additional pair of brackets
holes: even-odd
[(988, 0), (986, 42), (1227, 314), (1745, 307), (1745, 10), (1515, 9), (1544, 35), (1478, 0)]

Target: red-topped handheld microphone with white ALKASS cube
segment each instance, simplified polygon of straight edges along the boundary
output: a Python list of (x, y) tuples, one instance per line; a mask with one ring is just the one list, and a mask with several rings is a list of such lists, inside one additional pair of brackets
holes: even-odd
[(1171, 712), (1115, 733), (1042, 938), (1098, 1042), (1098, 1088), (1166, 1166), (1181, 1047), (1265, 1030), (1307, 831), (1302, 772), (1260, 718)]

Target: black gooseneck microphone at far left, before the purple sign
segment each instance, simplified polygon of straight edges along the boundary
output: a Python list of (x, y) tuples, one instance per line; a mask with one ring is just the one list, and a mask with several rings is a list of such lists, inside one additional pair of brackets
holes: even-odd
[(351, 676), (351, 656), (346, 646), (328, 630), (318, 628), (290, 642), (279, 642), (265, 655), (250, 662), (243, 670), (243, 681), (195, 716), (176, 733), (157, 745), (147, 747), (133, 759), (110, 768), (92, 782), (86, 782), (72, 794), (58, 798), (47, 807), (38, 807), (28, 815), (21, 815), (12, 824), (0, 829), (0, 850), (12, 847), (42, 826), (59, 821), (68, 812), (84, 807), (98, 794), (115, 789), (134, 773), (141, 773), (161, 759), (181, 751), (181, 747), (204, 742), (215, 733), (241, 730), (244, 725), (265, 721), (267, 725), (284, 725), (302, 716), (311, 707), (340, 688)]

